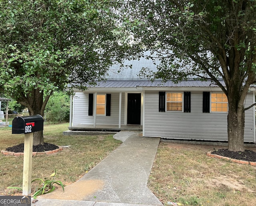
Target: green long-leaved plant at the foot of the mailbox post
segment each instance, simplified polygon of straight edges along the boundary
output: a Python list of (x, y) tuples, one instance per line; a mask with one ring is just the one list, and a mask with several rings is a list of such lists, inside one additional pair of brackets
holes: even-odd
[(46, 178), (43, 178), (43, 179), (34, 179), (32, 180), (32, 182), (34, 181), (39, 181), (39, 186), (37, 187), (36, 189), (36, 192), (34, 193), (33, 197), (34, 199), (36, 199), (36, 197), (40, 194), (46, 194), (46, 193), (50, 193), (52, 192), (53, 190), (55, 190), (55, 186), (54, 184), (58, 184), (62, 187), (63, 191), (64, 191), (64, 186), (62, 184), (62, 182), (60, 180), (54, 180), (55, 178), (55, 175), (56, 175), (56, 169), (55, 169), (55, 172), (52, 173), (52, 175), (50, 175), (50, 177), (52, 177), (51, 180), (49, 179), (46, 179)]

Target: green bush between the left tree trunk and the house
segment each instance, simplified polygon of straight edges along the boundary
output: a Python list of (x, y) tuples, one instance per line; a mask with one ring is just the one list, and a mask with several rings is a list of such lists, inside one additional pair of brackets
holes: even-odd
[(54, 92), (45, 108), (46, 121), (68, 122), (70, 97), (64, 92)]

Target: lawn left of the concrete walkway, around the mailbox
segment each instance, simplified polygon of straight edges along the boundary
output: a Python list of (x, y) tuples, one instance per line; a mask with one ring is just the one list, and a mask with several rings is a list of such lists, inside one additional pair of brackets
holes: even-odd
[[(49, 177), (56, 169), (56, 180), (70, 184), (80, 179), (121, 143), (112, 135), (62, 135), (68, 126), (68, 123), (44, 126), (44, 142), (70, 147), (52, 155), (34, 156), (32, 180)], [(24, 135), (12, 134), (11, 130), (10, 127), (0, 128), (0, 150), (24, 142)], [(23, 157), (0, 154), (0, 194), (15, 192), (6, 189), (12, 184), (22, 187), (22, 171)], [(32, 184), (32, 193), (35, 187), (36, 185)]]

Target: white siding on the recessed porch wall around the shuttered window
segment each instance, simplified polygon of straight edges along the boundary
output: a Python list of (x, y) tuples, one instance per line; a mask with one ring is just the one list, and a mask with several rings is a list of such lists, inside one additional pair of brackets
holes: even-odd
[[(94, 124), (94, 116), (88, 116), (89, 93), (76, 92), (73, 100), (73, 126), (78, 124)], [(111, 94), (110, 116), (96, 116), (96, 124), (114, 124), (119, 123), (119, 93)], [(124, 93), (122, 93), (122, 111), (121, 124), (124, 124)]]

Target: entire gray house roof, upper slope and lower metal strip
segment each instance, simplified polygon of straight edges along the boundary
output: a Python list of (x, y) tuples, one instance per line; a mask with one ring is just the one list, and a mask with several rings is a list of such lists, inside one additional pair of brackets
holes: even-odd
[[(105, 76), (105, 81), (97, 82), (96, 86), (87, 85), (88, 88), (136, 88), (136, 87), (217, 87), (211, 81), (186, 80), (175, 84), (172, 81), (162, 82), (160, 79), (152, 82), (146, 77), (140, 77), (140, 71), (147, 68), (147, 71), (156, 72), (157, 66), (160, 65), (160, 59), (147, 58), (150, 51), (144, 53), (144, 56), (134, 60), (124, 60), (124, 67), (120, 64), (113, 65), (109, 68)], [(157, 55), (156, 55), (157, 56)], [(188, 65), (191, 67), (191, 65)], [(147, 72), (149, 74), (149, 72)], [(190, 79), (196, 77), (189, 77)], [(224, 85), (224, 81), (222, 83)]]

